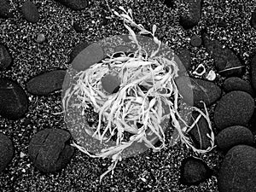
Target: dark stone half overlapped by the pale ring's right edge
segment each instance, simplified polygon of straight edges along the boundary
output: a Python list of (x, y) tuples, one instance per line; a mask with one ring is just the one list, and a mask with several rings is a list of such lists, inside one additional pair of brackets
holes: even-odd
[(201, 101), (210, 106), (221, 96), (221, 89), (218, 85), (207, 80), (179, 77), (175, 79), (175, 82), (179, 93), (183, 96), (183, 101), (190, 106), (202, 108)]

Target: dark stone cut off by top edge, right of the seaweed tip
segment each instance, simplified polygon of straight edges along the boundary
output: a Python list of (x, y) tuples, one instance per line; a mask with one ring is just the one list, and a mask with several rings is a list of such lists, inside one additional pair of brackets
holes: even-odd
[(201, 19), (201, 0), (185, 0), (184, 3), (188, 4), (189, 10), (181, 14), (179, 23), (184, 29), (189, 29)]

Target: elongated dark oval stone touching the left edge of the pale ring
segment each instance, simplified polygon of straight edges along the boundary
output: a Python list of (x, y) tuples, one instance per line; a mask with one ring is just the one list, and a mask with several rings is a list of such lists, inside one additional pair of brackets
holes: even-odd
[(61, 90), (66, 75), (65, 70), (55, 70), (33, 77), (26, 83), (27, 91), (38, 96), (47, 96)]

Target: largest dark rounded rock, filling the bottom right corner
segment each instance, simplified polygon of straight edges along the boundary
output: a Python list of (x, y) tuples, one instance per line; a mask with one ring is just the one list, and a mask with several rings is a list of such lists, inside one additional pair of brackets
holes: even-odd
[(219, 192), (256, 190), (256, 149), (237, 145), (225, 155), (218, 171)]

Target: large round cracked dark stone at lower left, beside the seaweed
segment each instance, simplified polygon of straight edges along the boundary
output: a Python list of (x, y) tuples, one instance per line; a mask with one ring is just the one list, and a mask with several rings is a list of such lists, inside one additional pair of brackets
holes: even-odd
[(32, 137), (28, 155), (41, 172), (57, 172), (67, 166), (74, 148), (69, 145), (71, 135), (61, 129), (45, 129)]

